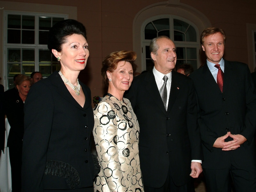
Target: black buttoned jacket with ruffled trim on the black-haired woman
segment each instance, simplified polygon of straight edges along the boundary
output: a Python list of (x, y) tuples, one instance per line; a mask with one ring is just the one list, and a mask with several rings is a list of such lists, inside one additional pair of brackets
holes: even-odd
[(23, 191), (93, 185), (91, 91), (80, 84), (86, 99), (83, 108), (58, 72), (31, 87), (24, 106)]

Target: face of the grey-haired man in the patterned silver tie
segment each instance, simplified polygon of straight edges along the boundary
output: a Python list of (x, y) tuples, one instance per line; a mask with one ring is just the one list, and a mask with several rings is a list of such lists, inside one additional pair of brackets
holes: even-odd
[(157, 71), (167, 74), (175, 68), (177, 55), (176, 47), (172, 40), (160, 38), (157, 40), (158, 50), (156, 54), (151, 52), (151, 58), (154, 60), (154, 66)]

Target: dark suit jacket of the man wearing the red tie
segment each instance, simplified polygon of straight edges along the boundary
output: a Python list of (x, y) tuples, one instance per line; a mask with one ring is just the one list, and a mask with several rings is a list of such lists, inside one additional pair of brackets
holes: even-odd
[[(240, 62), (225, 60), (223, 93), (208, 66), (197, 69), (193, 79), (198, 101), (198, 123), (203, 143), (203, 168), (222, 169), (231, 159), (238, 166), (255, 164), (256, 93), (249, 68)], [(225, 135), (242, 134), (247, 141), (240, 148), (222, 151), (213, 148), (215, 140)], [(233, 140), (227, 138), (226, 141)]]

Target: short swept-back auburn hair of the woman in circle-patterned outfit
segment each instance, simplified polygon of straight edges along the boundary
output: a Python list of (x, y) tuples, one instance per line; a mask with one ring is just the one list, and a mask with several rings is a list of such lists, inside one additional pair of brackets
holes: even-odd
[(134, 63), (136, 60), (136, 52), (134, 51), (117, 51), (110, 53), (105, 59), (102, 61), (101, 75), (108, 86), (108, 76), (107, 71), (113, 72), (117, 68), (117, 64), (120, 61), (127, 61), (132, 64), (133, 73), (135, 73), (137, 65)]

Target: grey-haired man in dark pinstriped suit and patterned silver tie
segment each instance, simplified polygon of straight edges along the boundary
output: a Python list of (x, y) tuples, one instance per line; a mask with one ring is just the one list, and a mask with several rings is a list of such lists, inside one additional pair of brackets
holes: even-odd
[(144, 188), (187, 192), (191, 177), (202, 172), (194, 86), (190, 78), (173, 71), (176, 47), (168, 37), (152, 39), (150, 52), (153, 70), (135, 77), (126, 94), (140, 124)]

